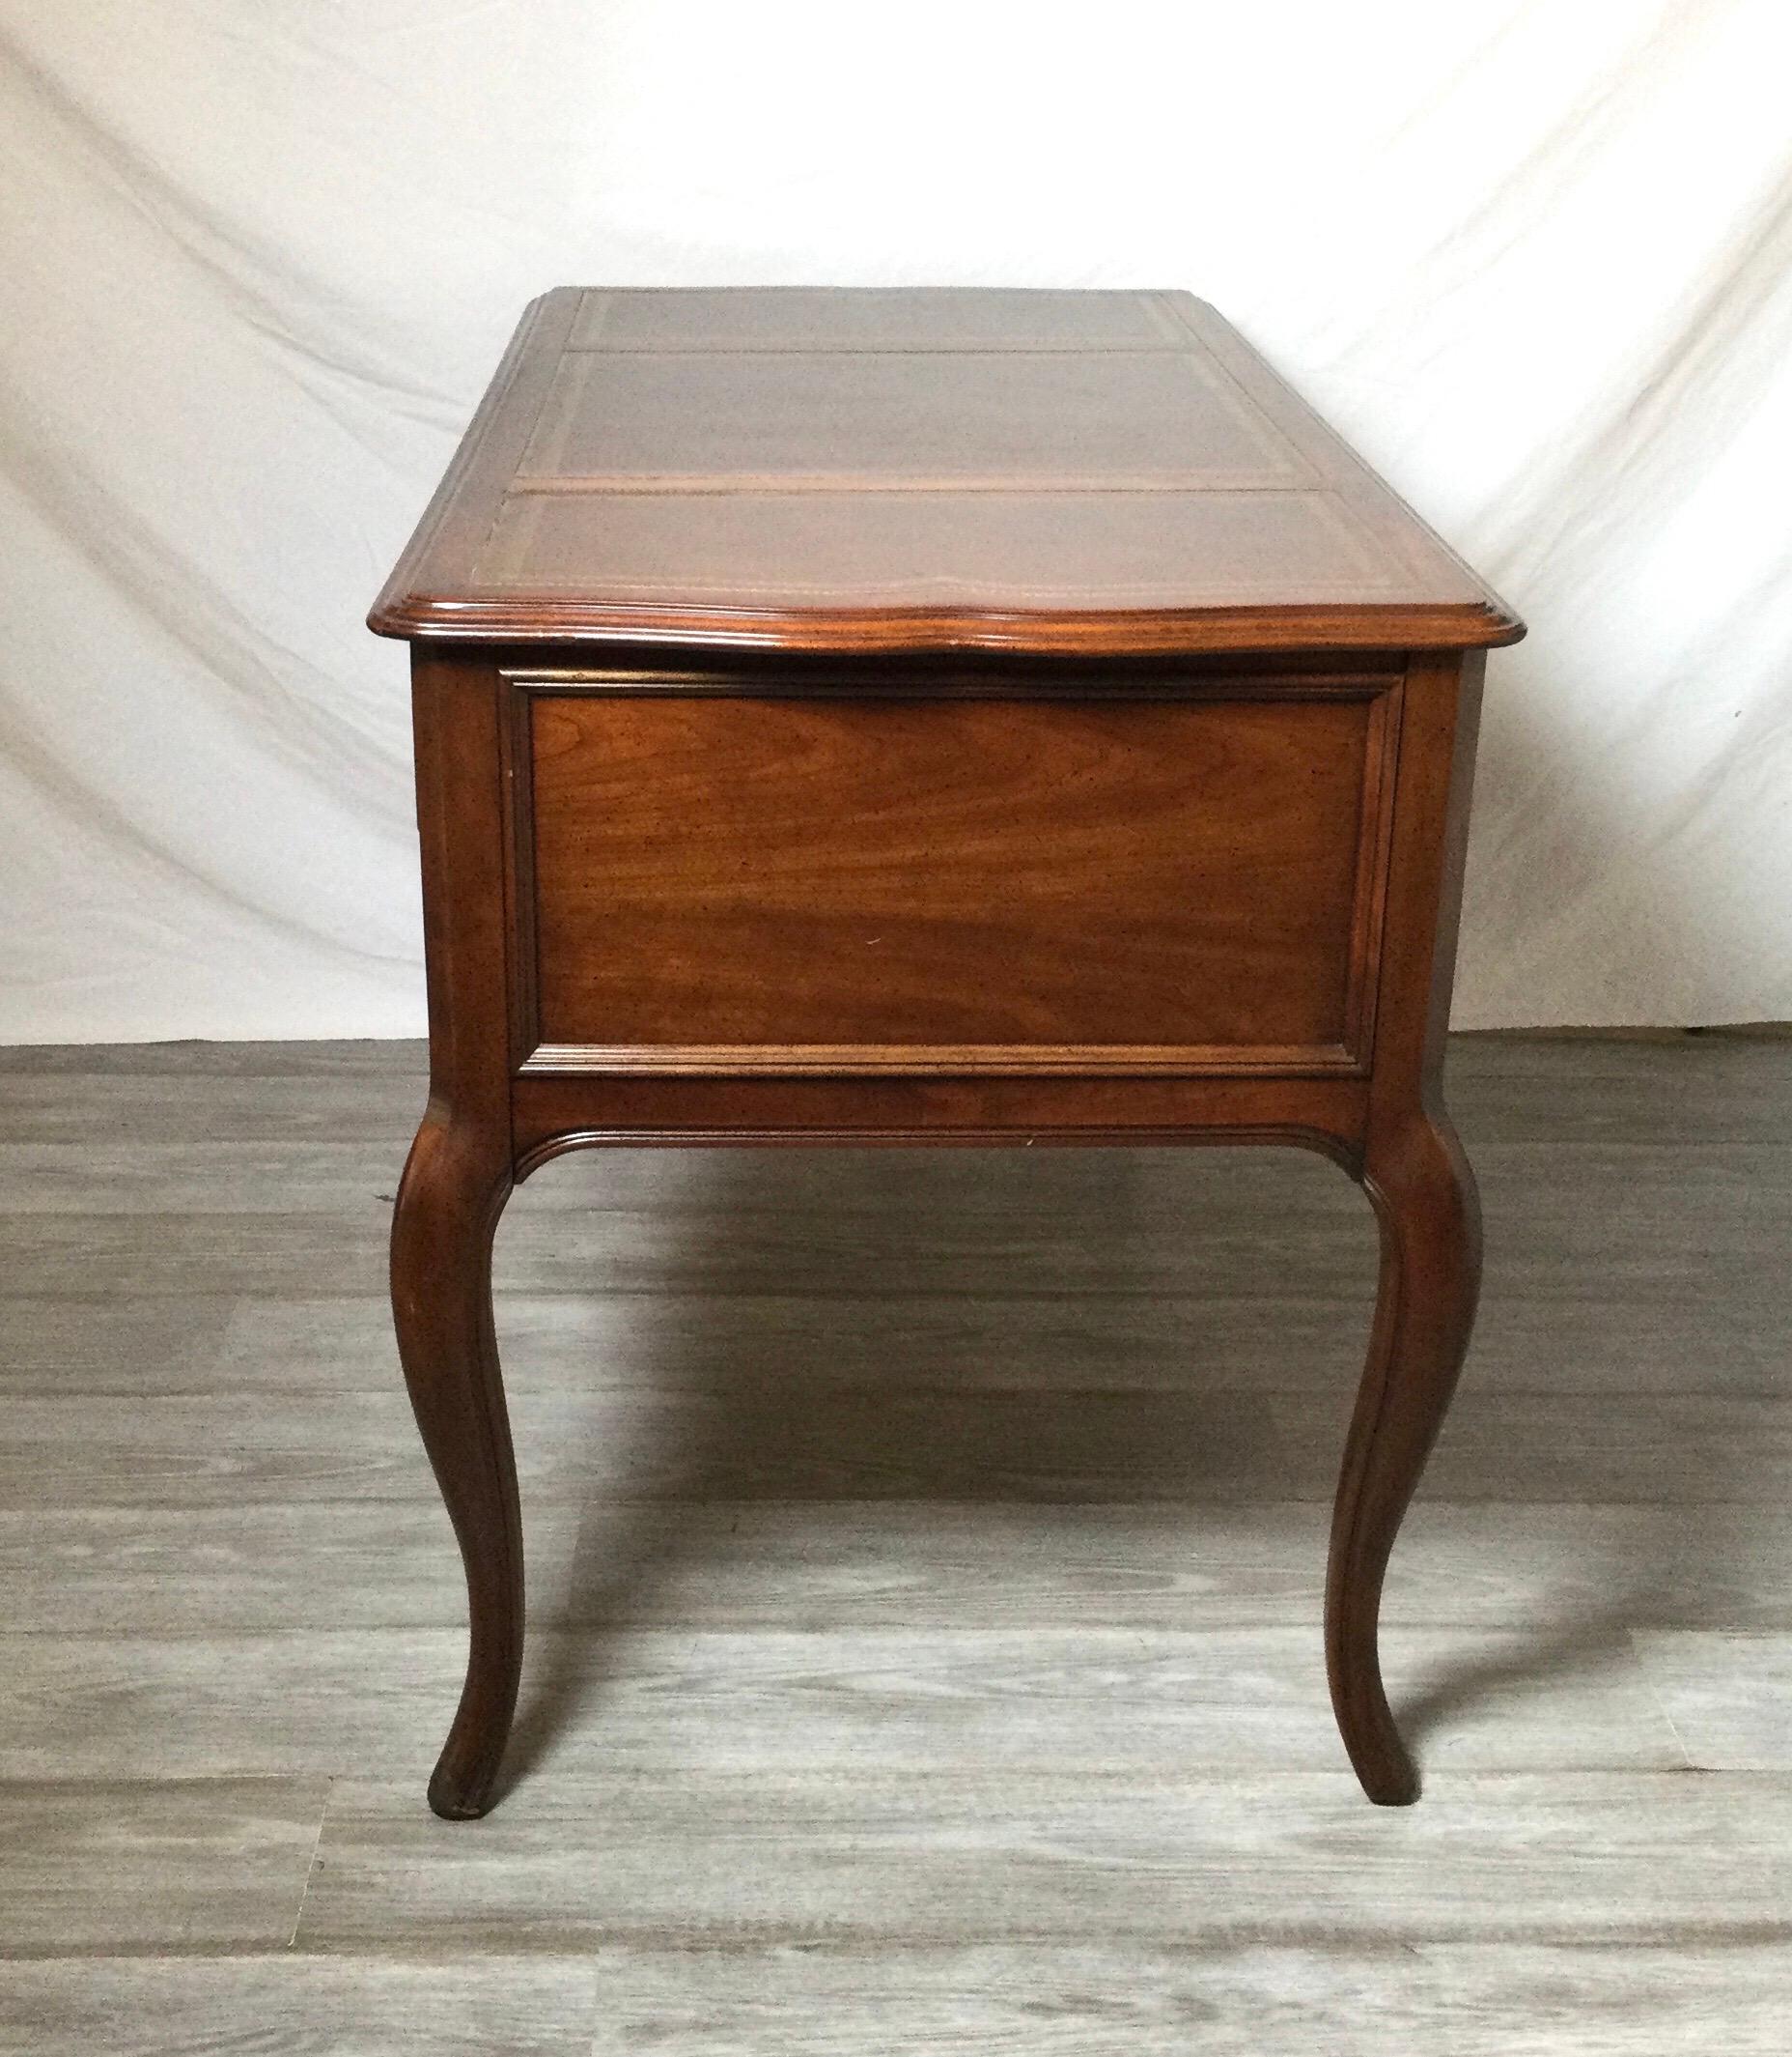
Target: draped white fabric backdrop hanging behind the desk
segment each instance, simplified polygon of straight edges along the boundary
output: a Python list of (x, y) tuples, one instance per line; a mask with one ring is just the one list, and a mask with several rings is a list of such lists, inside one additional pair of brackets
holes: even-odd
[(1792, 8), (0, 0), (0, 1039), (421, 1026), (362, 615), (551, 284), (1186, 286), (1498, 584), (1459, 1024), (1792, 1016)]

